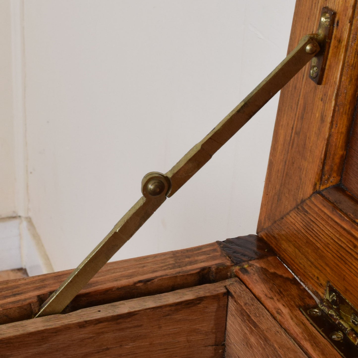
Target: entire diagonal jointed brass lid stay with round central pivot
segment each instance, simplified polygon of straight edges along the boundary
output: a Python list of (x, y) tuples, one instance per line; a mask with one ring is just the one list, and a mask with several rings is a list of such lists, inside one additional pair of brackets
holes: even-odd
[(181, 188), (260, 108), (319, 52), (317, 34), (297, 47), (202, 141), (165, 175), (149, 173), (142, 180), (143, 197), (42, 305), (36, 317), (61, 313), (97, 271), (134, 235), (157, 208)]

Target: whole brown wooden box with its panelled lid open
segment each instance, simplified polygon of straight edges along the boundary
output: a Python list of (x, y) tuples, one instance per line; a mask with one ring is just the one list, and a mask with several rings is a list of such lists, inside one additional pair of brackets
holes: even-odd
[(71, 271), (0, 282), (0, 357), (358, 357), (357, 1), (297, 0), (289, 50), (324, 6), (323, 83), (309, 63), (281, 91), (257, 234), (107, 263), (58, 315), (32, 319)]

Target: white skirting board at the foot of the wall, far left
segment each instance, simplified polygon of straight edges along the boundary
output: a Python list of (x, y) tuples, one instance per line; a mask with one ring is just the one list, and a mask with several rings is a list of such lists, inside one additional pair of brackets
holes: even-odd
[(53, 272), (53, 267), (30, 218), (0, 219), (0, 271), (23, 267), (29, 276)]

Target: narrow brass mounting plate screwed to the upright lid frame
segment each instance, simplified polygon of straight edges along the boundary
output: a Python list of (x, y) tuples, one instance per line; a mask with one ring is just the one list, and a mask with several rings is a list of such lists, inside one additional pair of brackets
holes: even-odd
[(335, 12), (322, 8), (317, 33), (319, 34), (320, 50), (311, 60), (310, 78), (316, 84), (322, 84), (329, 47), (333, 35)]

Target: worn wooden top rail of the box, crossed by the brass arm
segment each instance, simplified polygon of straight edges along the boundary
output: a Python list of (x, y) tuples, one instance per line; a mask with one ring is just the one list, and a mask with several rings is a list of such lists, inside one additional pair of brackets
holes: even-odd
[[(217, 243), (110, 262), (67, 311), (225, 280), (232, 266)], [(0, 324), (32, 318), (71, 271), (0, 282)]]

